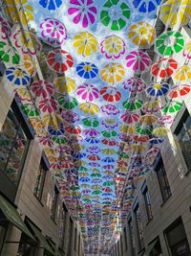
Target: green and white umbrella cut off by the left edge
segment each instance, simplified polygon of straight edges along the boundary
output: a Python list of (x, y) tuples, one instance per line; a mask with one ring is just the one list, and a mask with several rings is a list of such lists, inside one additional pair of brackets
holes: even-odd
[(16, 49), (3, 41), (0, 41), (0, 58), (4, 62), (12, 64), (18, 64), (20, 61), (20, 57), (17, 54)]

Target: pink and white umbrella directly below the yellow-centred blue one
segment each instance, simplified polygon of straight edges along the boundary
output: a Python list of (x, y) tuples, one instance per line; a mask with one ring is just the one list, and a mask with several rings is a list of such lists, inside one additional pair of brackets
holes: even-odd
[(96, 86), (92, 84), (83, 84), (77, 87), (76, 94), (80, 96), (83, 101), (93, 102), (98, 99), (99, 91)]

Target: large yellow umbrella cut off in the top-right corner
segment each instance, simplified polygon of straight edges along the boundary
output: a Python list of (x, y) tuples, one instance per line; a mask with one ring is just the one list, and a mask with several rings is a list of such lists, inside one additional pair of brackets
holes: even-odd
[(168, 0), (160, 9), (159, 18), (172, 29), (187, 25), (191, 16), (190, 0)]

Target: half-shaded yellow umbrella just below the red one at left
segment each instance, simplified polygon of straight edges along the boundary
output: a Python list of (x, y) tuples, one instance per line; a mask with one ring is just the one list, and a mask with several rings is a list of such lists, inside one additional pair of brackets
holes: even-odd
[(69, 77), (58, 77), (54, 79), (53, 84), (58, 93), (70, 93), (75, 88), (75, 81)]

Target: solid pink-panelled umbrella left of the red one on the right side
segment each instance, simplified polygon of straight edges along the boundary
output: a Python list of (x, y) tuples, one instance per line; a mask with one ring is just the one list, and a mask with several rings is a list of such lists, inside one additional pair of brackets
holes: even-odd
[(126, 57), (126, 60), (126, 66), (131, 67), (131, 69), (138, 74), (149, 71), (152, 62), (146, 52), (139, 50), (130, 52)]

